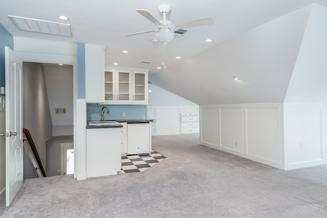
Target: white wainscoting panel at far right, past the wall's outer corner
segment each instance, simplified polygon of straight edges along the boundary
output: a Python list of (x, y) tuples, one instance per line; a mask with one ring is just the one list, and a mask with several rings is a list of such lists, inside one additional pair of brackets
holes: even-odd
[(321, 161), (324, 138), (322, 108), (308, 105), (287, 107), (286, 112), (288, 165)]

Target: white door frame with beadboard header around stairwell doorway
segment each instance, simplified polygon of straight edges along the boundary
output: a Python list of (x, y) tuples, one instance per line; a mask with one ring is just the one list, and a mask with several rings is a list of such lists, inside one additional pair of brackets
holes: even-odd
[[(81, 150), (83, 156), (83, 147), (85, 144), (76, 143), (77, 140), (85, 138), (85, 125), (76, 125), (77, 116), (86, 117), (86, 105), (78, 104), (78, 57), (77, 43), (67, 43), (60, 41), (49, 41), (22, 37), (14, 38), (14, 53), (21, 58), (23, 62), (54, 63), (73, 65), (73, 98), (74, 98), (74, 178), (77, 180), (86, 179), (86, 156), (77, 158), (78, 151)], [(23, 72), (24, 73), (24, 72)], [(85, 100), (84, 100), (85, 102)], [(81, 112), (78, 112), (81, 111)], [(82, 114), (81, 114), (82, 113)], [(85, 141), (85, 140), (84, 140)], [(77, 144), (79, 147), (77, 148)], [(84, 152), (85, 154), (85, 152)], [(83, 167), (85, 165), (85, 167)], [(77, 166), (81, 167), (77, 169)]]

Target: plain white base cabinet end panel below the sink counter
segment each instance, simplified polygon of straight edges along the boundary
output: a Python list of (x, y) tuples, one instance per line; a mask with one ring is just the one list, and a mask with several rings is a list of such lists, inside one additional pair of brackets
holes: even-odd
[(87, 178), (121, 170), (121, 128), (86, 129)]

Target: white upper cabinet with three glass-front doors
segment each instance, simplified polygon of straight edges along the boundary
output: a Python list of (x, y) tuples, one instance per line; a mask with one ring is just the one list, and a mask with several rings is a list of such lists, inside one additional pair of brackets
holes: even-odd
[(105, 103), (148, 104), (148, 71), (105, 69)]

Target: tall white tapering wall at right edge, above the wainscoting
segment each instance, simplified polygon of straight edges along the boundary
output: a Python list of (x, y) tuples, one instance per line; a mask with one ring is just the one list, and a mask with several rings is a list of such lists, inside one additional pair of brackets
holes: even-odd
[(327, 7), (313, 5), (285, 102), (327, 102)]

